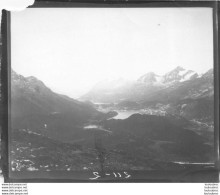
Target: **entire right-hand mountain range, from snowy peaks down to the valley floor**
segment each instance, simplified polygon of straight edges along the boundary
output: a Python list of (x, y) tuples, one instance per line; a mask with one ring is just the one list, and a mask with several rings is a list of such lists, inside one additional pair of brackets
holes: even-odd
[(213, 125), (213, 82), (213, 69), (199, 75), (178, 66), (162, 76), (149, 72), (133, 82), (123, 79), (109, 81), (110, 87), (100, 82), (81, 100), (115, 103), (119, 108), (156, 108), (188, 120)]

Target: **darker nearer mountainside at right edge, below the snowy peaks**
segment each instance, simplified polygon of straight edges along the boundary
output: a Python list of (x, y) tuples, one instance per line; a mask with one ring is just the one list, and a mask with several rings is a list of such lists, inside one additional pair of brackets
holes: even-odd
[(213, 124), (213, 82), (213, 69), (210, 69), (195, 79), (176, 83), (151, 94), (148, 98), (143, 99), (142, 106), (148, 107), (161, 103), (170, 114)]

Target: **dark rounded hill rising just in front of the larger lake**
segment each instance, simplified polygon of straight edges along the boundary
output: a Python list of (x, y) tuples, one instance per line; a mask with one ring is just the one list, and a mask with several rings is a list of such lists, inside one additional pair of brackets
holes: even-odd
[[(164, 161), (212, 161), (213, 146), (207, 138), (174, 124), (163, 116), (134, 114), (125, 120), (107, 120), (104, 128), (113, 132), (105, 143), (125, 154)], [(137, 154), (136, 154), (137, 153)]]

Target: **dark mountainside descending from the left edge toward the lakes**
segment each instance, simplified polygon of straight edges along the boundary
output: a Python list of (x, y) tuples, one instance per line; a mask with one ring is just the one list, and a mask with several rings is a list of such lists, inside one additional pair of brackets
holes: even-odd
[(67, 141), (76, 139), (79, 126), (103, 117), (92, 105), (51, 91), (35, 77), (11, 74), (13, 129), (31, 129)]

